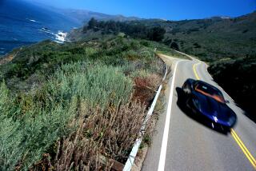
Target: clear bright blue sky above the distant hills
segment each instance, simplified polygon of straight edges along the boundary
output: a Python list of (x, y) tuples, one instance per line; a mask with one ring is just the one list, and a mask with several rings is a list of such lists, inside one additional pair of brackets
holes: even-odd
[[(1, 1), (1, 0), (0, 0)], [(256, 10), (256, 0), (30, 0), (58, 8), (85, 9), (139, 18), (182, 20), (237, 17)]]

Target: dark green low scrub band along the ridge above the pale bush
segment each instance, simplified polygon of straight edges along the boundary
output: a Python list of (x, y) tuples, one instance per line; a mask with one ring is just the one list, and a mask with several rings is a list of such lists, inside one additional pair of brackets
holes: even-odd
[(153, 62), (155, 44), (114, 36), (102, 41), (82, 41), (64, 45), (49, 41), (40, 42), (14, 50), (9, 55), (15, 56), (12, 62), (0, 67), (0, 78), (6, 80), (10, 89), (30, 89), (46, 82), (47, 77), (53, 74), (58, 66), (82, 61), (122, 66), (127, 69), (126, 72), (133, 71), (136, 66), (144, 67), (143, 70), (155, 71), (154, 66), (149, 66), (150, 62)]

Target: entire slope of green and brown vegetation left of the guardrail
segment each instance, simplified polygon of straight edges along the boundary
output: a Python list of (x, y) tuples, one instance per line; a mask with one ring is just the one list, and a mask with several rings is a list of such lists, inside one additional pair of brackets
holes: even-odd
[(8, 54), (0, 66), (0, 170), (125, 163), (165, 71), (157, 44), (112, 36)]

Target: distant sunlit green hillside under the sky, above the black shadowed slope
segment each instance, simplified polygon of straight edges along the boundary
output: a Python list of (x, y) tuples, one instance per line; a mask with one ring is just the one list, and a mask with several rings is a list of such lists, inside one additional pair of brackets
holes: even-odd
[[(194, 54), (206, 62), (256, 54), (256, 12), (238, 18), (206, 18), (183, 21), (141, 20), (133, 23), (162, 26), (163, 42)], [(176, 46), (177, 45), (177, 46)]]

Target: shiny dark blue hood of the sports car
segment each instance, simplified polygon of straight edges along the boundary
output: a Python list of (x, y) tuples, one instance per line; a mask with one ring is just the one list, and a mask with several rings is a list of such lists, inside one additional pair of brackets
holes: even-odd
[(221, 103), (212, 97), (205, 96), (201, 93), (197, 94), (200, 103), (200, 112), (208, 117), (217, 118), (220, 121), (229, 121), (230, 117), (236, 117), (235, 113), (226, 103)]

